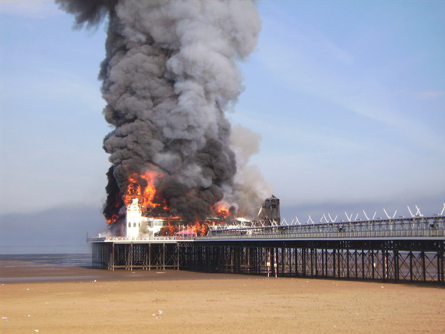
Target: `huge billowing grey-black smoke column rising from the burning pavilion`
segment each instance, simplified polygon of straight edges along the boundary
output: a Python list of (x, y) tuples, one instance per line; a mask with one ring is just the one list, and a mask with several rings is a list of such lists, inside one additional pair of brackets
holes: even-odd
[[(122, 194), (146, 170), (161, 210), (188, 221), (214, 214), (217, 202), (252, 215), (270, 194), (248, 165), (259, 136), (225, 117), (241, 93), (236, 61), (257, 44), (261, 22), (251, 0), (56, 0), (92, 27), (108, 15), (101, 64), (104, 138), (110, 154), (104, 215), (116, 221)], [(231, 135), (232, 134), (232, 135)]]

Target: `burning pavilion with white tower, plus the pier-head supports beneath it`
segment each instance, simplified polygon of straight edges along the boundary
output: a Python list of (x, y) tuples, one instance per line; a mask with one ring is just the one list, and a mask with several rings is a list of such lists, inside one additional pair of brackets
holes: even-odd
[(279, 225), (280, 200), (267, 198), (253, 221), (224, 216), (207, 218), (188, 225), (181, 217), (150, 217), (138, 197), (131, 199), (125, 213), (124, 233), (115, 237), (88, 239), (92, 244), (92, 266), (114, 269), (181, 269), (188, 262), (192, 250), (188, 248), (195, 237), (208, 231), (242, 229)]

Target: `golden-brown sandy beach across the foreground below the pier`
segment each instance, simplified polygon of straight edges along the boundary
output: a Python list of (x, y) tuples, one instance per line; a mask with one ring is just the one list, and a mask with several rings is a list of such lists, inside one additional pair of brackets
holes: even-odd
[(0, 276), (5, 334), (445, 333), (437, 285), (80, 267)]

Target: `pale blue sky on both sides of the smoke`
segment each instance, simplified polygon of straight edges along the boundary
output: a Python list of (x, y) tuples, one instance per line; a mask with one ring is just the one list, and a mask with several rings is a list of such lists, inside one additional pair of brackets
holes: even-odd
[[(284, 216), (439, 212), (445, 2), (274, 0), (259, 13), (229, 118), (261, 134), (253, 162)], [(104, 201), (104, 26), (72, 22), (52, 1), (0, 0), (0, 214)]]

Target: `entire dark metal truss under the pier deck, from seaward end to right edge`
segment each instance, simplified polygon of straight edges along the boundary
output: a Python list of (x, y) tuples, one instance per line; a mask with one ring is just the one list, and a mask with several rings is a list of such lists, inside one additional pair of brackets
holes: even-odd
[[(95, 239), (92, 267), (445, 284), (445, 240)], [(268, 262), (270, 266), (268, 267)]]

